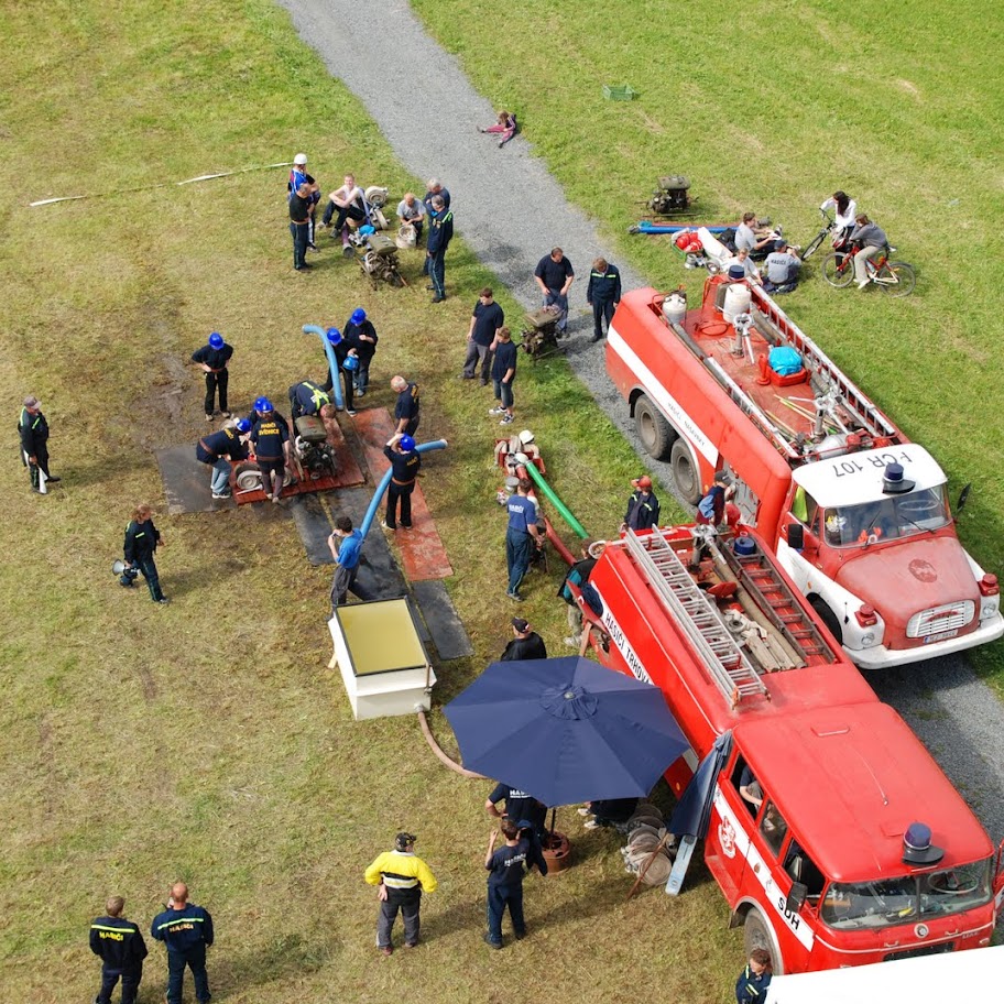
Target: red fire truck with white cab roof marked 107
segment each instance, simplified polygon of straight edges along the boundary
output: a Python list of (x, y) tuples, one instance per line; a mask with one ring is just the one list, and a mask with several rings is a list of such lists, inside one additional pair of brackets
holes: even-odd
[(959, 543), (937, 461), (762, 288), (714, 275), (692, 310), (680, 292), (626, 294), (607, 369), (687, 501), (731, 474), (744, 521), (859, 666), (1004, 634), (996, 576)]

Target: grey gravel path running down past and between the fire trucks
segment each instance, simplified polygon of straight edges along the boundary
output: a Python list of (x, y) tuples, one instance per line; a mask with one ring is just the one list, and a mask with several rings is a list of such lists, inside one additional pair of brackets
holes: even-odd
[[(301, 36), (362, 101), (418, 177), (439, 177), (452, 195), (456, 227), (481, 261), (527, 307), (539, 305), (533, 270), (555, 244), (576, 268), (571, 287), (568, 360), (599, 405), (624, 433), (646, 467), (668, 484), (664, 465), (642, 449), (626, 407), (607, 379), (602, 346), (589, 342), (586, 280), (592, 259), (610, 257), (596, 227), (568, 204), (561, 187), (516, 137), (498, 150), (476, 127), (494, 121), (452, 56), (424, 31), (403, 0), (280, 0)], [(406, 48), (407, 65), (393, 57)], [(379, 181), (379, 179), (378, 179)], [(519, 193), (520, 214), (505, 211)], [(501, 211), (500, 211), (501, 210)], [(645, 285), (621, 268), (624, 287)], [(447, 266), (447, 288), (449, 269)], [(466, 295), (473, 301), (473, 293)], [(982, 819), (991, 837), (1004, 837), (1004, 707), (963, 658), (870, 677), (938, 759)]]

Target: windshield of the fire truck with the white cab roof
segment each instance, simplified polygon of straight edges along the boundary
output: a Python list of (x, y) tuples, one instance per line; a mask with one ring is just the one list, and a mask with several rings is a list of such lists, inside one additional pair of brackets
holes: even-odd
[(937, 484), (904, 495), (883, 495), (873, 502), (828, 509), (823, 530), (831, 546), (852, 547), (935, 531), (950, 519), (945, 485)]

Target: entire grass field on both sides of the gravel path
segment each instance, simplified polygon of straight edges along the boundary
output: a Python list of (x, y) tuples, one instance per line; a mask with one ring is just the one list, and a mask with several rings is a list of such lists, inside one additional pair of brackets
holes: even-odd
[[(615, 20), (597, 8), (575, 22), (567, 6), (533, 4), (506, 9), (503, 37), (483, 31), (489, 4), (418, 8), (483, 92), (516, 106), (623, 257), (665, 284), (686, 275), (665, 248), (623, 236), (637, 216), (631, 201), (657, 174), (689, 173), (709, 212), (751, 205), (806, 233), (814, 220), (804, 207), (838, 185), (873, 209), (920, 266), (918, 293), (883, 303), (810, 283), (792, 312), (809, 331), (830, 332), (828, 348), (956, 483), (978, 482), (963, 535), (1000, 569), (992, 360), (1001, 325), (983, 264), (1001, 257), (987, 222), (1002, 208), (987, 155), (1002, 128), (993, 31), (973, 31), (963, 51), (927, 4), (915, 6), (907, 36), (902, 20), (882, 22), (877, 4), (853, 30), (836, 4), (792, 4), (770, 26), (760, 15), (776, 6), (745, 8), (743, 24), (723, 10), (676, 25), (680, 9), (668, 3), (631, 4)], [(953, 18), (976, 24), (975, 10), (957, 7)], [(217, 918), (219, 998), (512, 996), (512, 979), (480, 941), (485, 787), (438, 766), (411, 720), (351, 722), (340, 681), (324, 668), (329, 572), (307, 566), (292, 522), (271, 506), (162, 513), (167, 609), (123, 593), (108, 571), (135, 502), (161, 502), (152, 450), (194, 443), (206, 428), (200, 381), (183, 362), (208, 331), (237, 347), (236, 402), (262, 392), (282, 400), (290, 383), (321, 371), (299, 326), (340, 324), (362, 305), (381, 334), (368, 403), (389, 403), (388, 378), (407, 372), (425, 391), (423, 433), (451, 441), (429, 462), (437, 476), (424, 490), (477, 656), (440, 672), (441, 706), (509, 632), (494, 426), (485, 397), (460, 395), (452, 380), (474, 291), (490, 276), (455, 245), (450, 285), (467, 292), (434, 308), (421, 282), (371, 293), (331, 252), (314, 274), (294, 274), (284, 170), (130, 192), (287, 161), (302, 148), (325, 181), (351, 163), (394, 193), (417, 184), (264, 0), (8, 6), (0, 31), (0, 388), (10, 413), (0, 997), (87, 1000), (97, 963), (86, 926), (105, 896), (127, 896), (145, 927), (176, 876)], [(659, 73), (650, 77), (655, 51)], [(870, 86), (854, 73), (862, 51)], [(736, 61), (768, 69), (746, 87)], [(623, 80), (641, 100), (604, 103), (601, 85)], [(602, 192), (587, 168), (609, 179)], [(80, 193), (114, 194), (26, 208)], [(416, 262), (407, 269), (414, 277)], [(14, 459), (15, 402), (28, 392), (43, 400), (53, 470), (65, 479), (46, 499), (28, 492)], [(556, 489), (590, 530), (610, 532), (635, 473), (630, 450), (560, 361), (532, 378), (524, 368), (517, 393), (519, 426), (537, 433)], [(526, 614), (559, 645), (553, 585), (534, 581), (530, 594)], [(993, 656), (981, 665), (993, 668)], [(441, 716), (433, 719), (449, 747)], [(373, 952), (375, 903), (361, 874), (402, 827), (418, 832), (441, 888), (424, 912), (428, 943), (388, 962)], [(614, 839), (590, 833), (576, 848), (575, 869), (531, 883), (534, 937), (502, 957), (506, 970), (534, 973), (535, 991), (558, 1002), (616, 1000), (640, 978), (670, 1001), (729, 998), (741, 936), (724, 929), (706, 874), (677, 902), (625, 905)], [(141, 1001), (162, 1000), (162, 979), (154, 951)]]

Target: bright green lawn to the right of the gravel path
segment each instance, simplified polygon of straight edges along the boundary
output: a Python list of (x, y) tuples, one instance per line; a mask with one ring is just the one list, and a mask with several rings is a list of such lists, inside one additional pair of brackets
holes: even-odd
[[(960, 534), (1004, 578), (1000, 8), (539, 0), (500, 20), (490, 0), (413, 7), (655, 284), (696, 292), (702, 277), (667, 238), (626, 233), (659, 175), (688, 175), (707, 221), (752, 209), (801, 243), (826, 196), (853, 195), (916, 266), (917, 291), (832, 290), (817, 253), (784, 308), (938, 457), (953, 495), (973, 482)], [(639, 99), (603, 99), (624, 83)], [(1004, 689), (1004, 645), (974, 663)]]

